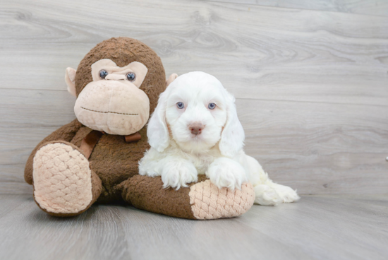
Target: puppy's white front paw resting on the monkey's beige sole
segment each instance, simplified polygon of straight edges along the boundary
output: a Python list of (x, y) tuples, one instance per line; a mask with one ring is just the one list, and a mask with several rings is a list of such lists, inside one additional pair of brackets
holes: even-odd
[(236, 188), (241, 189), (243, 182), (248, 182), (243, 166), (228, 158), (214, 160), (207, 169), (206, 175), (219, 189), (227, 187), (233, 191)]

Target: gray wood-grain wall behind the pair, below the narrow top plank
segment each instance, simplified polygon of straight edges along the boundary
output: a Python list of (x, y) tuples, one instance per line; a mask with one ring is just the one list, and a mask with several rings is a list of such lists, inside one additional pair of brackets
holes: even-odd
[(128, 36), (150, 45), (167, 74), (219, 78), (237, 98), (246, 152), (275, 181), (301, 194), (387, 193), (387, 25), (212, 1), (3, 3), (0, 183), (25, 187), (32, 148), (75, 118), (66, 67), (98, 42)]

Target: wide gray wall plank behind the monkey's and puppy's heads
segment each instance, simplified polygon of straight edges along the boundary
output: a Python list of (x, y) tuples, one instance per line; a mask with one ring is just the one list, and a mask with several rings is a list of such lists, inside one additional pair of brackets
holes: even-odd
[(238, 98), (387, 105), (388, 18), (207, 1), (83, 3), (4, 4), (0, 88), (65, 90), (67, 66), (121, 35), (150, 45), (167, 73), (211, 73)]

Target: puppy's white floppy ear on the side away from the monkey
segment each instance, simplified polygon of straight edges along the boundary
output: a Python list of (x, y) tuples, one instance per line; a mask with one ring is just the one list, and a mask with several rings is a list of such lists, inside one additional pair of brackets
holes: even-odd
[(226, 93), (226, 124), (219, 141), (219, 150), (226, 157), (233, 157), (244, 146), (244, 129), (237, 117), (233, 95)]

